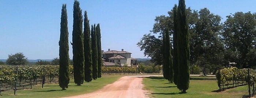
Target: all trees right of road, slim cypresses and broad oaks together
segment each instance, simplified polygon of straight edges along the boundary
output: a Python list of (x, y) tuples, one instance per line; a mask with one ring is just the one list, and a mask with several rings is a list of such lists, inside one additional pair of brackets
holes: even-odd
[(256, 67), (256, 13), (236, 12), (221, 23), (207, 8), (191, 10), (179, 0), (168, 14), (156, 16), (153, 29), (137, 45), (163, 65), (164, 78), (182, 93), (189, 88), (190, 68), (200, 67), (207, 75), (230, 66)]

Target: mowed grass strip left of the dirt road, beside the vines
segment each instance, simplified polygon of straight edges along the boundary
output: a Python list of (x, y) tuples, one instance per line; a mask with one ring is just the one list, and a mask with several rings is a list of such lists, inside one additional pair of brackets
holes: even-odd
[(70, 79), (67, 90), (62, 90), (59, 84), (45, 84), (44, 88), (42, 85), (32, 86), (32, 89), (17, 90), (14, 95), (14, 90), (1, 91), (1, 98), (59, 98), (69, 97), (74, 95), (91, 93), (99, 90), (107, 84), (114, 83), (116, 80), (121, 78), (123, 75), (103, 75), (102, 78), (92, 80), (92, 82), (82, 84), (82, 86), (76, 86), (74, 79)]

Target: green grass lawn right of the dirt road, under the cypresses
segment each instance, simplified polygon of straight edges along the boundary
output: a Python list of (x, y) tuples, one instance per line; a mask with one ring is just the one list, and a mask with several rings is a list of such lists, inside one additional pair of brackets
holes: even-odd
[(143, 78), (142, 84), (146, 90), (151, 91), (149, 96), (155, 98), (241, 98), (248, 95), (248, 86), (215, 92), (219, 89), (216, 77), (190, 77), (190, 86), (186, 94), (181, 94), (174, 83), (168, 83), (163, 77)]

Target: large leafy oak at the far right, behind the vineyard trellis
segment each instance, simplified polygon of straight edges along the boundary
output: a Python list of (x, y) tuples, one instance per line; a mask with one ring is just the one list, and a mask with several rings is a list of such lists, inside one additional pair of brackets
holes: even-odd
[(238, 68), (255, 67), (256, 14), (236, 12), (226, 17), (222, 33), (226, 61), (236, 63)]

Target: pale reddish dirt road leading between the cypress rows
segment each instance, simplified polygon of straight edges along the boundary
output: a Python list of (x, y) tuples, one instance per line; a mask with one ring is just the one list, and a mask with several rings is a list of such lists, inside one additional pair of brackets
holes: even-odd
[(143, 77), (148, 76), (124, 76), (93, 93), (66, 98), (145, 98), (147, 91), (143, 90)]

